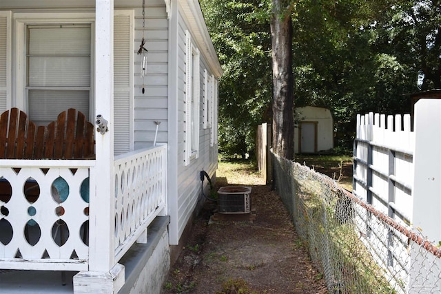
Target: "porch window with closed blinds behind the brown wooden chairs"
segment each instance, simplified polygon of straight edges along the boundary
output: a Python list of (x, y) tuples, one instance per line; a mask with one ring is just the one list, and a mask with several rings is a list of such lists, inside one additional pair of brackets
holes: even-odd
[(73, 107), (90, 117), (90, 24), (28, 25), (25, 94), (30, 120), (46, 125)]

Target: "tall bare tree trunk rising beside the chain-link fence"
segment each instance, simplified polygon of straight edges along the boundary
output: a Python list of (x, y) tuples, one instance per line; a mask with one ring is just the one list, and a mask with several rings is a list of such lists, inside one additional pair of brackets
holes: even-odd
[(294, 159), (294, 74), (289, 1), (272, 0), (273, 151)]

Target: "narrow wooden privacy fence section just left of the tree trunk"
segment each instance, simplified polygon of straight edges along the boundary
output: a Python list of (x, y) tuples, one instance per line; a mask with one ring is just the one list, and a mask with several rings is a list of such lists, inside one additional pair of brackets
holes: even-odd
[(265, 179), (265, 183), (271, 181), (271, 157), (269, 149), (271, 148), (271, 125), (263, 123), (257, 126), (256, 135), (256, 157), (258, 169)]

